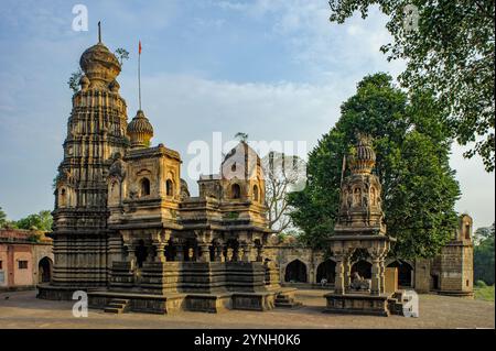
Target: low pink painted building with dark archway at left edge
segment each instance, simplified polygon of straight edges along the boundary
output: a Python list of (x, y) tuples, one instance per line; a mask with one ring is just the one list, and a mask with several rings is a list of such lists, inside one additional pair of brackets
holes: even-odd
[(50, 282), (52, 267), (52, 239), (43, 232), (0, 229), (0, 292)]

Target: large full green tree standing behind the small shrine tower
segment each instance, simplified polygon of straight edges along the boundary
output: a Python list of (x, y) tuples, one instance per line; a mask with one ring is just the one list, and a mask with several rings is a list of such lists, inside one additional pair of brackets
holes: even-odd
[(333, 233), (338, 209), (342, 160), (357, 132), (374, 138), (376, 174), (382, 183), (392, 254), (435, 255), (456, 228), (459, 184), (449, 165), (450, 139), (440, 108), (429, 94), (410, 99), (386, 74), (365, 77), (341, 107), (341, 118), (309, 154), (308, 185), (289, 195), (291, 217), (312, 246)]

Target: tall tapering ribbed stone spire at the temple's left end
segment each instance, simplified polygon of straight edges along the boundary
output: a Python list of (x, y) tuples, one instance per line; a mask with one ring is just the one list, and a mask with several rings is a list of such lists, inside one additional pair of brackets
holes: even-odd
[[(98, 254), (106, 252), (108, 241), (108, 186), (104, 179), (112, 156), (123, 154), (128, 144), (127, 107), (116, 80), (120, 63), (101, 43), (100, 22), (98, 41), (79, 59), (82, 89), (72, 99), (58, 167), (53, 211), (55, 286), (107, 286), (106, 254)], [(85, 281), (78, 277), (82, 266)]]

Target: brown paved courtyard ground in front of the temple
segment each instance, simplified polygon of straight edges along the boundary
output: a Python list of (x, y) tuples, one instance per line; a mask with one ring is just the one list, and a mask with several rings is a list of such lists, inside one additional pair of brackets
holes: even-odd
[[(72, 315), (72, 301), (35, 298), (35, 292), (0, 294), (0, 329), (6, 328), (494, 328), (494, 303), (421, 295), (420, 317), (370, 317), (323, 314), (325, 290), (299, 290), (304, 307), (257, 312), (174, 315), (105, 314), (90, 309), (87, 318)], [(6, 298), (9, 297), (9, 298)]]

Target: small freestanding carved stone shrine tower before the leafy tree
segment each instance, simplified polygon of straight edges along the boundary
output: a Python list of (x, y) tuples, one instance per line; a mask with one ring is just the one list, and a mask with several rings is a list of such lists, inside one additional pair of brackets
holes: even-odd
[[(346, 161), (349, 174), (342, 182), (337, 222), (328, 240), (336, 272), (334, 293), (325, 295), (326, 310), (388, 316), (385, 257), (393, 239), (386, 234), (382, 222), (381, 186), (373, 174), (376, 153), (371, 139), (357, 134)], [(370, 257), (370, 281), (356, 277), (352, 282), (352, 256), (357, 251)]]

